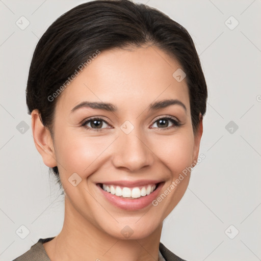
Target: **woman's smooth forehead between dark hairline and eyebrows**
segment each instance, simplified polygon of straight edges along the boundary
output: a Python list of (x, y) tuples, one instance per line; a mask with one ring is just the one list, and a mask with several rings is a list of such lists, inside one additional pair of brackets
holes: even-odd
[(155, 46), (101, 51), (62, 92), (57, 109), (68, 111), (88, 100), (110, 102), (124, 111), (173, 98), (190, 110), (186, 81), (173, 77), (179, 68), (176, 60)]

